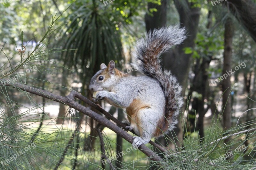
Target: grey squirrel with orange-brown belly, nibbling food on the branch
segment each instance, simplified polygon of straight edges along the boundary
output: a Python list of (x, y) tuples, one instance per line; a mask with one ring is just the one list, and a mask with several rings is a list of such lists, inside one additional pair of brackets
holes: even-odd
[(105, 100), (115, 107), (126, 108), (129, 121), (122, 121), (126, 130), (134, 130), (132, 146), (147, 144), (152, 137), (160, 137), (178, 123), (183, 105), (181, 86), (175, 76), (161, 66), (160, 55), (186, 38), (185, 28), (169, 26), (155, 29), (136, 43), (132, 65), (145, 76), (135, 77), (102, 63), (92, 77), (89, 90), (94, 101)]

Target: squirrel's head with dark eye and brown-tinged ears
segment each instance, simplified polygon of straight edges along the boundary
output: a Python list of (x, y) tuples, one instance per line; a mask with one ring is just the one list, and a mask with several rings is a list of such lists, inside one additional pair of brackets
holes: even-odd
[(104, 63), (100, 64), (100, 70), (91, 79), (89, 90), (93, 92), (104, 89), (110, 91), (111, 86), (116, 83), (117, 79), (124, 75), (124, 73), (117, 70), (115, 67), (116, 64), (114, 61), (110, 61), (108, 67)]

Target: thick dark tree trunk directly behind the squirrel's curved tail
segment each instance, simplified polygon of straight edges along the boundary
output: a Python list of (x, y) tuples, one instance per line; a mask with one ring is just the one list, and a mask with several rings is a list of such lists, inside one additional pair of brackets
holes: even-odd
[[(175, 6), (180, 16), (180, 26), (185, 27), (187, 29), (187, 39), (183, 41), (182, 44), (177, 45), (175, 49), (171, 51), (169, 54), (164, 55), (163, 63), (164, 67), (168, 70), (171, 70), (172, 74), (175, 75), (178, 79), (180, 85), (182, 85), (182, 96), (185, 95), (185, 90), (187, 88), (188, 81), (188, 71), (191, 63), (192, 54), (185, 54), (184, 48), (190, 47), (194, 49), (195, 47), (195, 38), (197, 34), (197, 28), (199, 24), (200, 17), (200, 8), (196, 8), (193, 3), (189, 3), (186, 0), (186, 5), (188, 8), (183, 6), (179, 0), (175, 0)], [(185, 110), (186, 106), (183, 106), (183, 110)], [(183, 114), (181, 114), (181, 120), (183, 119)], [(176, 145), (180, 147), (183, 141), (183, 131), (181, 130), (184, 125), (184, 122), (179, 122), (178, 127), (174, 129), (174, 132), (177, 134), (179, 141), (176, 141)], [(170, 136), (172, 137), (172, 136)], [(170, 144), (169, 144), (170, 145)], [(171, 148), (173, 148), (173, 144), (171, 144)]]

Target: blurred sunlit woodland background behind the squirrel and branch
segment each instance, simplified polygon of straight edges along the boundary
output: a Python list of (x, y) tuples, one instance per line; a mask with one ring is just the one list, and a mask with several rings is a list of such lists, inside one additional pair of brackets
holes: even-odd
[[(236, 162), (231, 165), (255, 164), (255, 11), (255, 0), (1, 0), (0, 78), (61, 96), (76, 90), (92, 99), (88, 85), (101, 63), (114, 60), (119, 70), (141, 75), (129, 70), (136, 40), (150, 30), (180, 24), (188, 37), (162, 56), (162, 65), (182, 85), (185, 104), (174, 132), (152, 140), (177, 153), (208, 145), (216, 151), (207, 155), (209, 160), (218, 157), (217, 152), (225, 154), (244, 144), (246, 151), (231, 158)], [(26, 47), (24, 53), (18, 52), (24, 50), (22, 46)], [(100, 162), (100, 142), (94, 130), (98, 122), (64, 104), (0, 88), (1, 160), (10, 157), (9, 145), (17, 143), (22, 148), (33, 141), (37, 146), (15, 160), (18, 162), (11, 161), (9, 167), (113, 169)], [(122, 109), (97, 104), (120, 121), (127, 117)], [(231, 130), (225, 134), (227, 129)], [(209, 146), (239, 129), (246, 133), (226, 138), (228, 145), (218, 144), (223, 150)], [(102, 126), (100, 130), (108, 157), (131, 146), (113, 131)], [(11, 149), (15, 153), (17, 147)], [(188, 155), (197, 160), (192, 153)], [(195, 166), (182, 166), (182, 159), (184, 155), (177, 156), (172, 165), (181, 169)], [(195, 161), (210, 166), (205, 162)], [(118, 157), (112, 164), (117, 169), (157, 169), (140, 151)], [(6, 169), (6, 165), (0, 166)]]

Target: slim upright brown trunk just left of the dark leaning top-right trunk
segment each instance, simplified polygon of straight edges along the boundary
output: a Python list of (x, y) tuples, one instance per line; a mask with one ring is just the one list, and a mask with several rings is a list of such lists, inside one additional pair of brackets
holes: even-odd
[[(223, 75), (227, 75), (227, 71), (232, 69), (231, 62), (232, 62), (233, 35), (234, 35), (234, 28), (232, 24), (232, 19), (227, 18), (225, 23), (225, 32), (224, 32), (224, 54), (223, 54), (223, 70), (222, 70)], [(222, 85), (222, 92), (223, 92), (222, 103), (224, 105), (224, 110), (222, 115), (223, 128), (229, 129), (231, 128), (231, 97), (229, 97), (231, 92), (230, 76), (228, 76), (226, 79), (224, 78), (221, 82), (221, 85)], [(229, 141), (229, 138), (225, 140), (225, 142), (228, 142), (228, 141)]]

